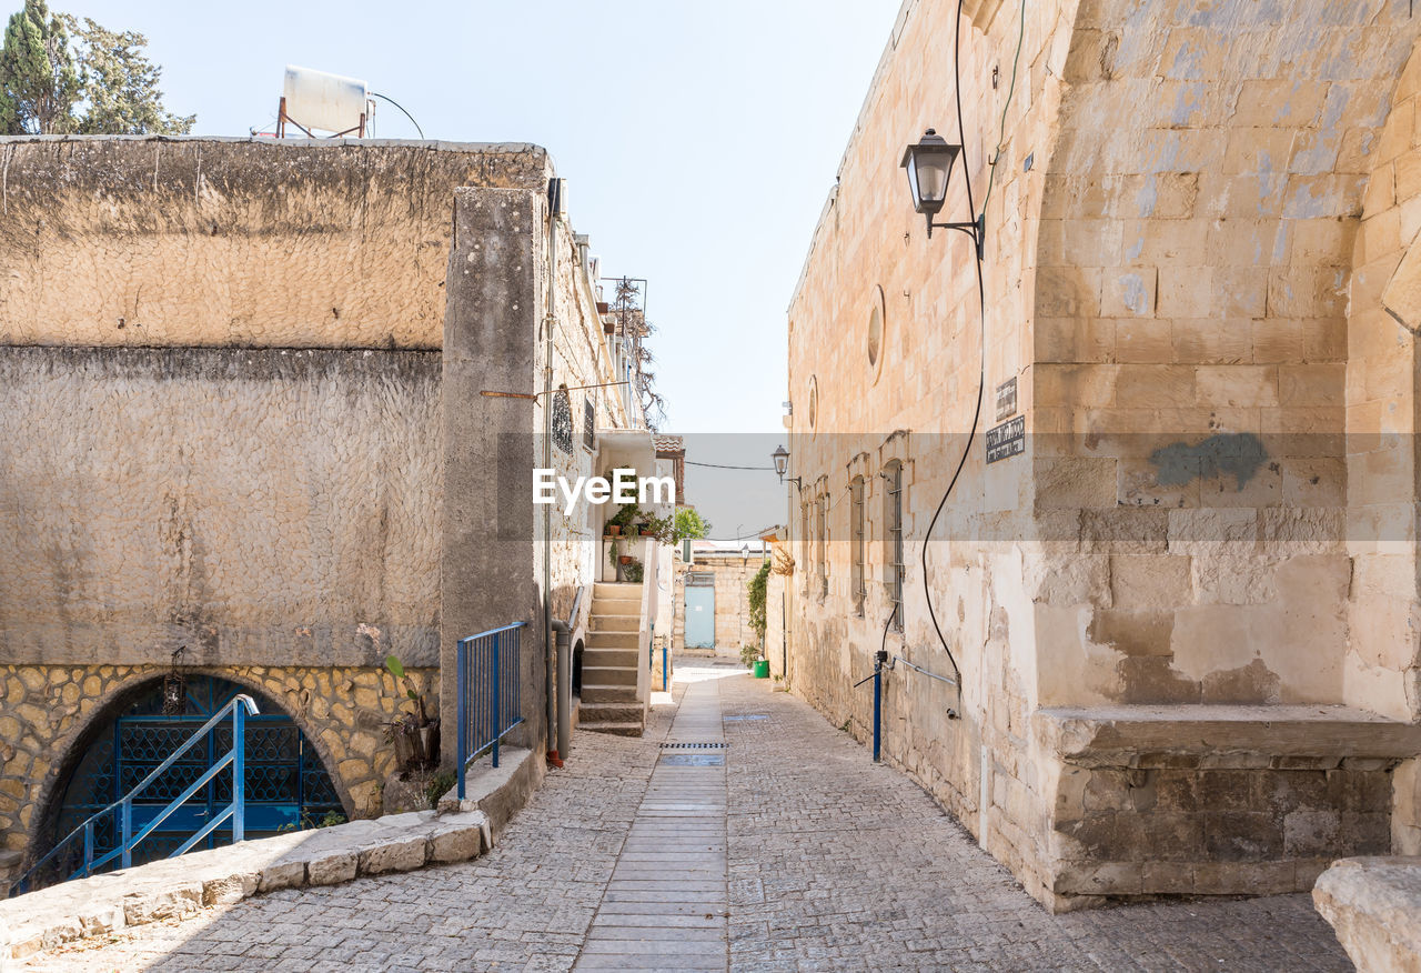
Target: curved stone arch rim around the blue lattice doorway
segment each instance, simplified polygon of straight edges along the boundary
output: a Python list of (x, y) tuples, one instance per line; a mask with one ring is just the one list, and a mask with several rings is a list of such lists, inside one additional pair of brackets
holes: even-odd
[[(33, 791), (34, 805), (38, 809), (28, 826), (24, 829), (26, 834), (26, 852), (27, 858), (33, 861), (37, 854), (47, 851), (50, 844), (63, 835), (53, 834), (54, 824), (57, 819), (57, 811), (64, 799), (65, 791), (70, 781), (88, 753), (90, 747), (94, 745), (98, 734), (112, 725), (114, 720), (128, 707), (131, 707), (144, 694), (149, 693), (155, 684), (159, 684), (163, 679), (166, 669), (161, 667), (144, 667), (132, 673), (121, 676), (115, 683), (112, 683), (95, 701), (87, 708), (82, 717), (64, 734), (53, 741), (53, 751), (58, 754), (57, 760), (50, 764), (48, 772)], [(291, 718), (293, 724), (301, 731), (307, 743), (315, 750), (321, 765), (325, 768), (330, 777), (331, 785), (340, 798), (341, 807), (344, 808), (347, 817), (352, 814), (352, 798), (347, 781), (337, 772), (337, 764), (333, 761), (333, 755), (325, 743), (320, 738), (318, 727), (313, 725), (308, 716), (301, 711), (301, 707), (290, 706), (287, 698), (290, 693), (274, 680), (263, 681), (250, 673), (240, 670), (230, 670), (222, 667), (209, 666), (185, 666), (183, 673), (186, 676), (205, 676), (213, 679), (225, 679), (230, 683), (236, 683), (249, 690), (260, 693), (264, 698), (271, 700), (277, 707), (281, 708), (281, 714)]]

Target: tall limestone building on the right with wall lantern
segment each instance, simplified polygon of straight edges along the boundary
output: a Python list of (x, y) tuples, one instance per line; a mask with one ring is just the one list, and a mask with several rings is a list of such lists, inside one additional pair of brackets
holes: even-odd
[[(892, 27), (789, 310), (790, 680), (868, 733), (884, 644), (885, 760), (1054, 909), (1421, 849), (1418, 34), (1401, 0)], [(980, 265), (909, 202), (929, 127)]]

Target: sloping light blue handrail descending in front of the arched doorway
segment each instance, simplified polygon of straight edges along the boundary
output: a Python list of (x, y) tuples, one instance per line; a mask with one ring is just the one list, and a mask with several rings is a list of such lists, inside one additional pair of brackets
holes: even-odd
[[(193, 795), (217, 777), (223, 770), (232, 767), (232, 802), (223, 807), (217, 814), (212, 817), (207, 824), (205, 824), (196, 834), (188, 838), (183, 844), (173, 851), (169, 858), (176, 858), (183, 852), (192, 849), (199, 841), (210, 835), (220, 825), (226, 824), (227, 819), (232, 821), (232, 841), (233, 844), (243, 841), (246, 838), (246, 725), (247, 716), (257, 716), (257, 704), (250, 696), (234, 696), (230, 703), (222, 707), (210, 720), (202, 724), (202, 728), (188, 737), (182, 747), (175, 750), (168, 755), (162, 764), (153, 770), (152, 774), (139, 781), (138, 787), (121, 797), (114, 804), (108, 805), (102, 811), (91, 815), (78, 828), (67, 834), (44, 858), (37, 861), (30, 866), (20, 879), (10, 886), (10, 895), (20, 895), (30, 890), (30, 885), (36, 875), (41, 869), (51, 863), (61, 861), (61, 855), (65, 852), (72, 852), (77, 849), (78, 842), (82, 842), (82, 861), (84, 863), (78, 871), (65, 876), (64, 881), (85, 878), (92, 875), (95, 871), (108, 865), (115, 858), (119, 859), (119, 868), (131, 868), (134, 863), (134, 848), (138, 846), (145, 838), (148, 838), (158, 826), (166, 821), (172, 814), (186, 804)], [(226, 754), (217, 757), (207, 771), (193, 781), (188, 789), (169, 801), (158, 814), (148, 819), (148, 824), (135, 835), (134, 834), (134, 801), (142, 795), (149, 785), (153, 784), (159, 777), (163, 775), (169, 767), (172, 767), (179, 757), (186, 754), (189, 750), (198, 745), (199, 741), (207, 738), (207, 734), (223, 720), (232, 720), (232, 750)], [(94, 832), (95, 825), (102, 824), (107, 815), (115, 815), (118, 831), (118, 842), (112, 851), (94, 858)]]

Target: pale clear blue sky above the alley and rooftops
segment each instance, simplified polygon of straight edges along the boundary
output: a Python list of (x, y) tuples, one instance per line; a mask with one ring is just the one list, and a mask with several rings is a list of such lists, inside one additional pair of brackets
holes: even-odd
[[(368, 81), (429, 138), (549, 148), (604, 273), (649, 280), (664, 430), (769, 438), (784, 310), (899, 1), (50, 0), (146, 34), (196, 134), (270, 127), (300, 64)], [(379, 137), (415, 137), (394, 108), (377, 117)], [(773, 444), (749, 455), (764, 441), (702, 440), (743, 464), (767, 462)], [(720, 535), (776, 518), (712, 519)]]

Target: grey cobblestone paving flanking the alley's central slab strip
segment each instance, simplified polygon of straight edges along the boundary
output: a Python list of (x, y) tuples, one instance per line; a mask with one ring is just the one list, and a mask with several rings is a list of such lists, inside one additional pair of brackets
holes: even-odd
[[(716, 688), (735, 970), (1350, 969), (1306, 895), (1050, 916), (919, 788), (810, 707), (746, 676)], [(587, 945), (604, 939), (605, 893), (618, 856), (635, 856), (638, 812), (669, 795), (648, 791), (669, 728), (666, 707), (641, 740), (580, 734), (567, 768), (479, 861), (279, 892), (31, 967), (568, 970), (580, 955), (593, 964), (611, 956)], [(723, 918), (712, 920), (719, 937)]]

